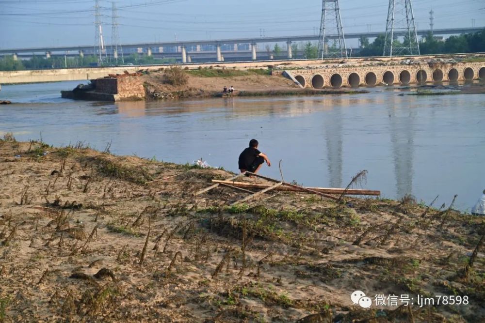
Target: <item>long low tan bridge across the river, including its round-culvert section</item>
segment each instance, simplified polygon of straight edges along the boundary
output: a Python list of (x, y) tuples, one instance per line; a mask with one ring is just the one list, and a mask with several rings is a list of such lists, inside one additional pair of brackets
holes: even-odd
[[(402, 56), (392, 59), (386, 57), (376, 58), (354, 58), (345, 60), (340, 64), (338, 60), (286, 60), (286, 61), (249, 61), (249, 62), (220, 62), (201, 64), (183, 64), (181, 66), (190, 69), (197, 68), (268, 68), (269, 66), (285, 66), (292, 75), (305, 87), (321, 89), (323, 87), (358, 87), (375, 86), (382, 84), (411, 84), (439, 81), (463, 81), (474, 79), (485, 79), (485, 62), (470, 63), (437, 63), (429, 66), (422, 65), (399, 65), (403, 60), (425, 60), (431, 58), (446, 59), (450, 57), (473, 58), (484, 57), (484, 54), (462, 54), (462, 55), (434, 55), (434, 56)], [(388, 66), (369, 66), (372, 59), (385, 63)], [(328, 68), (321, 67), (323, 64)], [(340, 65), (340, 66), (339, 66)], [(36, 82), (57, 82), (71, 80), (90, 80), (98, 77), (105, 77), (109, 74), (123, 74), (125, 71), (134, 73), (141, 69), (156, 71), (169, 65), (139, 65), (139, 66), (117, 66), (117, 67), (95, 67), (95, 68), (67, 68), (31, 71), (0, 71), (0, 84), (36, 83)]]

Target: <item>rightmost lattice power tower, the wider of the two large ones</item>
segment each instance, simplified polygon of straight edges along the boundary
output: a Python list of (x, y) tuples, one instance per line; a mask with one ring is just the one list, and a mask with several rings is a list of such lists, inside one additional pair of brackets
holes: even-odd
[[(395, 42), (395, 31), (404, 31), (403, 44)], [(420, 55), (411, 0), (389, 0), (383, 55)]]

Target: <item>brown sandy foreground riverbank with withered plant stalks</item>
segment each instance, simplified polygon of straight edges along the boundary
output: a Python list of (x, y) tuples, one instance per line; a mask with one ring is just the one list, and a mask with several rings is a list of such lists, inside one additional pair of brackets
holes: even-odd
[[(194, 198), (211, 179), (231, 176), (82, 147), (0, 140), (0, 321), (485, 317), (483, 253), (462, 276), (483, 240), (483, 218), (426, 213), (412, 199), (339, 204), (270, 192), (228, 207), (247, 194), (227, 187)], [(154, 179), (163, 180), (147, 183)], [(415, 300), (466, 295), (469, 305), (362, 309), (350, 300), (355, 290), (372, 299), (377, 293)]]

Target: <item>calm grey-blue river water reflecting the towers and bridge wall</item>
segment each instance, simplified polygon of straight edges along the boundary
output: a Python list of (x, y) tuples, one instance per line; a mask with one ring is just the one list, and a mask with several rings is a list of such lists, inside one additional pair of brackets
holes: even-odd
[(203, 157), (237, 171), (237, 156), (257, 138), (275, 167), (266, 175), (314, 186), (347, 185), (362, 169), (383, 196), (413, 194), (437, 205), (458, 194), (466, 210), (485, 188), (485, 96), (399, 96), (397, 87), (320, 97), (98, 103), (59, 98), (77, 82), (3, 86), (0, 132), (53, 145), (78, 140), (115, 154), (179, 163)]

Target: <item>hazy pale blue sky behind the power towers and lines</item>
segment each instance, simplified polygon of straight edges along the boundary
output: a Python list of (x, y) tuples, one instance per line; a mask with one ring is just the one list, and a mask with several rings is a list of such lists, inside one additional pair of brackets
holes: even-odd
[[(340, 0), (345, 32), (384, 31), (388, 0)], [(94, 0), (0, 0), (0, 48), (94, 44)], [(111, 39), (111, 2), (100, 1)], [(122, 43), (318, 33), (321, 0), (119, 0)], [(485, 26), (485, 0), (414, 0), (418, 29)], [(473, 20), (474, 19), (474, 20)]]

